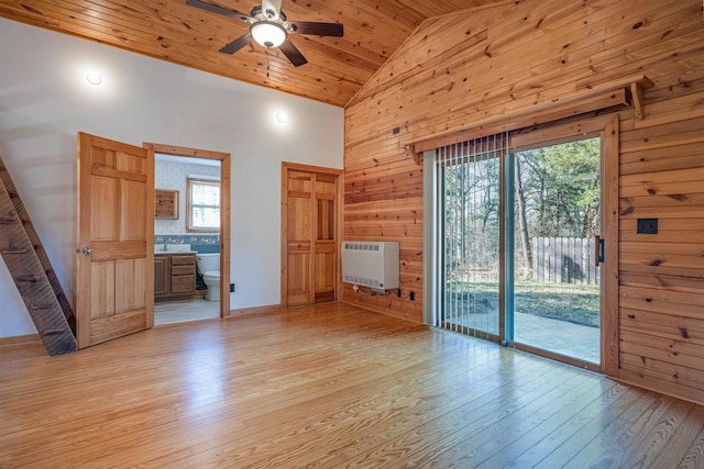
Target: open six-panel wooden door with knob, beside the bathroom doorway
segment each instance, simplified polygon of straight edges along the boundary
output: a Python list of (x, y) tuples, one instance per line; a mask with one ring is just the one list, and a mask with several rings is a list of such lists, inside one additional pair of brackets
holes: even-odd
[(154, 160), (79, 134), (76, 328), (80, 348), (154, 324)]

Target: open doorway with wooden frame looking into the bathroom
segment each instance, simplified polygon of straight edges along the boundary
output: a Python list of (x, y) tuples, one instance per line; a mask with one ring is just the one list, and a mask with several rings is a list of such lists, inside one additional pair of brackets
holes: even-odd
[(155, 154), (154, 323), (224, 317), (230, 312), (230, 155), (144, 146)]

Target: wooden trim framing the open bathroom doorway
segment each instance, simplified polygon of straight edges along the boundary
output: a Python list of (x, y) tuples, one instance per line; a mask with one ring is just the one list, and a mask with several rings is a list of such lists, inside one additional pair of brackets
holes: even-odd
[[(224, 152), (212, 152), (208, 149), (189, 148), (184, 146), (164, 145), (157, 143), (145, 142), (142, 144), (144, 148), (152, 152), (152, 183), (154, 189), (154, 154), (194, 157), (201, 159), (213, 159), (220, 161), (220, 317), (229, 315), (230, 311), (230, 231), (231, 231), (231, 159), (232, 156)], [(153, 227), (152, 227), (153, 230)], [(199, 232), (202, 233), (202, 232)], [(154, 232), (152, 231), (152, 239)], [(147, 249), (154, 255), (154, 243), (147, 246)], [(152, 259), (152, 270), (154, 269), (154, 260)], [(154, 271), (151, 278), (154, 279)], [(152, 289), (153, 287), (152, 281)], [(153, 297), (153, 294), (152, 294)], [(154, 308), (152, 308), (152, 312)], [(152, 313), (153, 316), (153, 313)], [(152, 317), (153, 320), (153, 317)]]

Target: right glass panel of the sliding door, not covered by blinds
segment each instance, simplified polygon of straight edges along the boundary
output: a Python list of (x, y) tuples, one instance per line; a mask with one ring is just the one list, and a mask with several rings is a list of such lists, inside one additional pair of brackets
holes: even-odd
[(601, 139), (507, 158), (509, 342), (600, 364)]

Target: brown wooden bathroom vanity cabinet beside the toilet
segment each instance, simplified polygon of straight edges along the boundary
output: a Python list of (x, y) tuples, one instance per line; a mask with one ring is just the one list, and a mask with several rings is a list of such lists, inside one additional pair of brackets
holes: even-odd
[(154, 253), (154, 302), (196, 294), (196, 253)]

